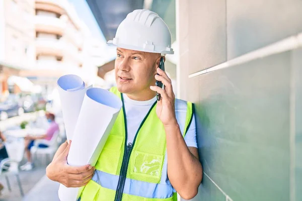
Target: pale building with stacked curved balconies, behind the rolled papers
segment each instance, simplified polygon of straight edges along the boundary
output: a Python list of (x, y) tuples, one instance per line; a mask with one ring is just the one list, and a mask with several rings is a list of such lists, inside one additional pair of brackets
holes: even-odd
[(81, 74), (86, 27), (67, 0), (36, 0), (33, 22), (36, 65), (20, 75), (53, 87), (63, 74)]

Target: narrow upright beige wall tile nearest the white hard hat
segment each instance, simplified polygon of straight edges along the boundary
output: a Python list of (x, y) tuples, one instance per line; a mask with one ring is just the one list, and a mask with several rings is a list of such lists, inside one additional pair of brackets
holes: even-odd
[[(226, 60), (225, 1), (190, 0), (189, 74)], [(184, 23), (184, 24), (185, 24)], [(180, 30), (182, 24), (180, 25)]]

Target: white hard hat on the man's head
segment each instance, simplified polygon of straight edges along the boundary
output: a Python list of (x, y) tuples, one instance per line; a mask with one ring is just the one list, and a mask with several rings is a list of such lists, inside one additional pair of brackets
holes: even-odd
[(162, 54), (174, 54), (171, 33), (158, 14), (147, 9), (129, 13), (118, 26), (115, 38), (108, 45)]

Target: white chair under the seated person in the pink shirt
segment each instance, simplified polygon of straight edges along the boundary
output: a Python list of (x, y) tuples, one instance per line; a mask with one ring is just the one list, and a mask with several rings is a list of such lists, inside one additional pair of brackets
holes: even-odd
[[(37, 154), (41, 154), (42, 162), (44, 161), (44, 156), (45, 158), (49, 157), (49, 159), (51, 159), (52, 155), (55, 153), (55, 151), (58, 148), (58, 143), (57, 143), (58, 137), (59, 137), (59, 131), (56, 131), (54, 132), (51, 140), (45, 140), (45, 139), (35, 140), (34, 146), (30, 149), (33, 158), (37, 158)], [(47, 145), (48, 147), (42, 148), (39, 147), (39, 145)]]

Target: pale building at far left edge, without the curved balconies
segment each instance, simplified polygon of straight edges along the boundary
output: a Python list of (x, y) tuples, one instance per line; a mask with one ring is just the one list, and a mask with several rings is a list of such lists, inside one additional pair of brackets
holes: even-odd
[(34, 0), (0, 1), (0, 82), (1, 95), (8, 94), (7, 80), (21, 69), (35, 65)]

